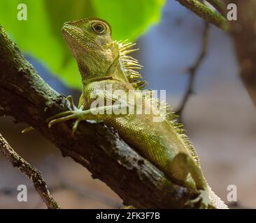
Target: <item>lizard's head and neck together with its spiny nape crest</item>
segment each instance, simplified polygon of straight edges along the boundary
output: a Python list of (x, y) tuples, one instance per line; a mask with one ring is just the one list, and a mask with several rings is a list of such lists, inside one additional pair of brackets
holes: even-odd
[(101, 79), (118, 79), (130, 82), (136, 89), (143, 89), (145, 82), (136, 69), (141, 66), (131, 56), (134, 43), (113, 41), (108, 22), (89, 18), (64, 23), (62, 33), (76, 58), (83, 84)]

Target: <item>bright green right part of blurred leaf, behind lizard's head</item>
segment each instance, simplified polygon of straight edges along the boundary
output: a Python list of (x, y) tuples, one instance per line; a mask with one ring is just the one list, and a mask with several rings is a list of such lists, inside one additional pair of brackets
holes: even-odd
[(97, 17), (107, 20), (115, 40), (136, 40), (148, 27), (159, 22), (164, 0), (93, 0)]

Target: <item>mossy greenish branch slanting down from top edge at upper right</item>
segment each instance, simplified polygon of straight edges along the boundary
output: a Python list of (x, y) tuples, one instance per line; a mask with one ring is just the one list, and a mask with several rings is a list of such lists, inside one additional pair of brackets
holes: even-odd
[(227, 31), (229, 29), (229, 24), (225, 19), (225, 17), (223, 17), (219, 13), (216, 13), (214, 10), (211, 10), (211, 8), (208, 8), (200, 1), (198, 0), (176, 0), (176, 1), (178, 1), (181, 5), (185, 6), (186, 8), (192, 10), (192, 12), (197, 14), (206, 22), (214, 24), (215, 26), (217, 26), (220, 29), (223, 29), (224, 31)]

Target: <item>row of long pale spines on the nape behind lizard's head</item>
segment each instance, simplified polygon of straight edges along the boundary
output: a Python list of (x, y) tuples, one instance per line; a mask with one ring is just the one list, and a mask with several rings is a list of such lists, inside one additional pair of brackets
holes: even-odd
[(144, 89), (145, 86), (148, 84), (145, 81), (141, 81), (141, 74), (136, 70), (141, 70), (143, 66), (138, 63), (138, 60), (134, 59), (127, 54), (137, 51), (138, 49), (131, 49), (136, 43), (127, 43), (125, 41), (115, 41), (118, 44), (119, 54), (120, 54), (120, 62), (122, 64), (122, 68), (129, 79), (129, 82), (133, 84), (134, 89)]

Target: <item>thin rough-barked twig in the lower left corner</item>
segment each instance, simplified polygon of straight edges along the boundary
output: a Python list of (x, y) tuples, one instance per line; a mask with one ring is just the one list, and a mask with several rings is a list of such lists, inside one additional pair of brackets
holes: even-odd
[(36, 191), (43, 199), (44, 203), (49, 209), (59, 209), (60, 206), (57, 204), (50, 194), (48, 187), (41, 176), (41, 172), (35, 167), (24, 160), (18, 155), (13, 148), (10, 147), (6, 139), (0, 134), (0, 151), (4, 156), (13, 164), (13, 167), (17, 167), (20, 171), (25, 174), (33, 183)]

